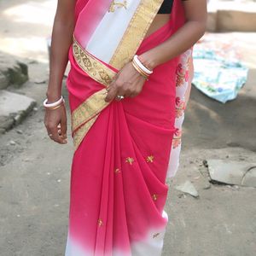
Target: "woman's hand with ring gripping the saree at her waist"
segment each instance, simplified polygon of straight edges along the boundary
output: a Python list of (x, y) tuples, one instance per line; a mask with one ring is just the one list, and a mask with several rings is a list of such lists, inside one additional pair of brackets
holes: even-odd
[(137, 96), (143, 90), (145, 80), (132, 66), (131, 62), (127, 63), (109, 85), (105, 101), (111, 102), (117, 96)]

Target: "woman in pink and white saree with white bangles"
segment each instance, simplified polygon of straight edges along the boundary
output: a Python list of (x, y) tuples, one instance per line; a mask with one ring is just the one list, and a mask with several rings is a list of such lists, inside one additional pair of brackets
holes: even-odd
[[(172, 12), (171, 12), (172, 9)], [(66, 256), (160, 255), (166, 173), (180, 148), (189, 63), (205, 0), (61, 0), (55, 15), (45, 125), (75, 152)]]

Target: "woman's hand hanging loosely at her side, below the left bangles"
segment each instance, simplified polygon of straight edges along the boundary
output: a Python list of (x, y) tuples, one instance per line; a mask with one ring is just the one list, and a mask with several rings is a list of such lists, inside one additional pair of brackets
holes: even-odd
[(55, 143), (67, 143), (67, 113), (65, 105), (57, 109), (45, 109), (44, 125)]

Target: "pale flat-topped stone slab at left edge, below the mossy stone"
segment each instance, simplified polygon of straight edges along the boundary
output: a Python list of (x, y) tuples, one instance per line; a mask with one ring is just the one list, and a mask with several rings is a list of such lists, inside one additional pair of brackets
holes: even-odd
[(36, 101), (8, 90), (0, 90), (0, 133), (20, 124), (32, 111)]

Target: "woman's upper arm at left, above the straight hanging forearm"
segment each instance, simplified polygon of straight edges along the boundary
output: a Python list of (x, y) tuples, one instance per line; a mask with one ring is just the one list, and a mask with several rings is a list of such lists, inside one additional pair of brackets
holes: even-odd
[(58, 0), (55, 20), (73, 22), (76, 0)]

